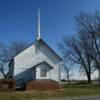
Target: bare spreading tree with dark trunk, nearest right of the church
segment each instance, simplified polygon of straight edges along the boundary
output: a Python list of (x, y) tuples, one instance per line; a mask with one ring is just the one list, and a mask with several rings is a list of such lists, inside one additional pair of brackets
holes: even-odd
[(78, 66), (85, 71), (88, 83), (91, 83), (92, 50), (91, 45), (89, 44), (90, 41), (88, 41), (88, 37), (83, 36), (83, 34), (77, 34), (77, 36), (77, 38), (64, 37), (62, 42), (60, 42), (59, 47), (65, 61), (74, 65), (78, 64)]

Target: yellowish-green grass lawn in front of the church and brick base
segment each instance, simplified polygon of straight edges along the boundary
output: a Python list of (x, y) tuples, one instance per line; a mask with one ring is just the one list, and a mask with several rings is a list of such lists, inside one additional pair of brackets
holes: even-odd
[(100, 85), (66, 85), (56, 91), (1, 92), (0, 100), (44, 100), (46, 98), (100, 95)]

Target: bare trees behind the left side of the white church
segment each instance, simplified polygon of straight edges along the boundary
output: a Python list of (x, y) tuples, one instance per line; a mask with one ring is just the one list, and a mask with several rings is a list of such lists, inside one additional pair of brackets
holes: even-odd
[(0, 72), (4, 78), (8, 77), (10, 60), (28, 46), (28, 42), (16, 40), (11, 41), (9, 46), (0, 43)]

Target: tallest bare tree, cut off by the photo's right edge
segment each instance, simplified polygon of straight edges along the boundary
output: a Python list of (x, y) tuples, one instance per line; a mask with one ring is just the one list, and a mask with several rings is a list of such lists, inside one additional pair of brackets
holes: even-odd
[[(98, 70), (98, 79), (100, 80), (100, 12), (93, 14), (80, 13), (76, 17), (78, 33), (89, 35), (93, 53), (91, 58), (94, 61), (94, 67)], [(98, 59), (99, 58), (99, 59)]]

